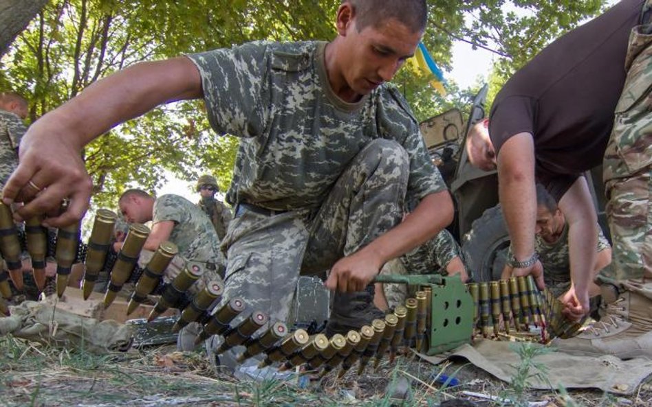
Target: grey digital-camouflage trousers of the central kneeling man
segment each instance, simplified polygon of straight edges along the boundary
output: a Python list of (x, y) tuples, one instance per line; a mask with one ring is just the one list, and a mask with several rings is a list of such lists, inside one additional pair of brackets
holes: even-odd
[[(395, 141), (360, 150), (317, 210), (267, 216), (244, 211), (229, 224), (223, 302), (241, 297), (251, 310), (286, 321), (296, 281), (325, 277), (340, 258), (389, 231), (402, 218), (409, 158)], [(351, 294), (336, 294), (346, 301)], [(244, 318), (244, 316), (241, 316)]]

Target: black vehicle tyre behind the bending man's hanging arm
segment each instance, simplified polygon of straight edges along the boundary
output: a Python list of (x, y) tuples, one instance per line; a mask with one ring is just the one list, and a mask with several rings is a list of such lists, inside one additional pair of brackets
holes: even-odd
[(462, 251), (470, 276), (475, 281), (499, 280), (509, 245), (510, 235), (500, 205), (484, 211), (462, 238)]

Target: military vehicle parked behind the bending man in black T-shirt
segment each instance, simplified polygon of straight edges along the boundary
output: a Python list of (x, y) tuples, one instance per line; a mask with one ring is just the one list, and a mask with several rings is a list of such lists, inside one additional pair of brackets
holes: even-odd
[[(453, 150), (455, 172), (447, 181), (455, 203), (455, 220), (448, 226), (448, 230), (460, 242), (470, 275), (475, 281), (500, 278), (510, 244), (499, 205), (497, 171), (486, 172), (473, 167), (464, 149), (469, 128), (488, 116), (488, 110), (485, 109), (487, 91), (488, 86), (484, 85), (477, 93), (466, 121), (461, 111), (454, 108), (420, 124), (428, 152), (435, 164), (441, 164), (444, 149)], [(602, 167), (596, 167), (585, 175), (591, 181), (589, 187), (598, 211), (600, 226), (609, 237)]]

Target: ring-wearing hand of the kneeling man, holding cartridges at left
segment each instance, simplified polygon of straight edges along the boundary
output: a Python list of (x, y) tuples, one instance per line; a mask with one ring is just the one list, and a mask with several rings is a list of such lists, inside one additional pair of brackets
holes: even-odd
[[(45, 119), (45, 120), (44, 120)], [(15, 212), (17, 220), (45, 214), (46, 226), (66, 226), (83, 217), (91, 196), (91, 178), (74, 137), (52, 124), (56, 117), (43, 117), (25, 133), (20, 146), (20, 164), (2, 192), (3, 202), (25, 202)], [(69, 205), (59, 213), (64, 199)]]

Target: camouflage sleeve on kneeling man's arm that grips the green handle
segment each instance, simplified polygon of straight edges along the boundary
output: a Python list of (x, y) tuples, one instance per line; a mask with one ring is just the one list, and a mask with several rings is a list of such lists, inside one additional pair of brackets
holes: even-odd
[(406, 202), (418, 202), (428, 194), (445, 191), (444, 178), (428, 154), (426, 141), (411, 108), (393, 86), (388, 86), (388, 91), (389, 102), (384, 106), (387, 117), (384, 120), (381, 118), (384, 123), (382, 131), (392, 132), (394, 137), (402, 138), (401, 144), (410, 157)]

